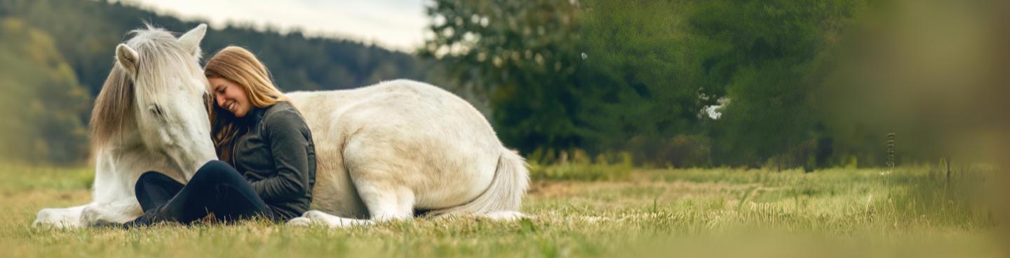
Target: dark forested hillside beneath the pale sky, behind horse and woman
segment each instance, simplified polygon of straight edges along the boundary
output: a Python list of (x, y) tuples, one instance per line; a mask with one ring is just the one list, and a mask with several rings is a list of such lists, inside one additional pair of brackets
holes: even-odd
[[(112, 66), (115, 45), (144, 22), (183, 32), (200, 21), (183, 21), (118, 2), (4, 0), (0, 16), (17, 17), (49, 34), (92, 96)], [(374, 45), (333, 38), (307, 38), (247, 27), (212, 28), (202, 43), (205, 56), (229, 44), (259, 54), (285, 91), (344, 89), (407, 78), (424, 80), (414, 56)]]

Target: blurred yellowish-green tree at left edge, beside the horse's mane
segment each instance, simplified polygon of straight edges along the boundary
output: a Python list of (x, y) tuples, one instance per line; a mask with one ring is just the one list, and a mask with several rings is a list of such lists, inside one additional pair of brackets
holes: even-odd
[(0, 19), (0, 159), (70, 163), (85, 158), (88, 95), (53, 38)]

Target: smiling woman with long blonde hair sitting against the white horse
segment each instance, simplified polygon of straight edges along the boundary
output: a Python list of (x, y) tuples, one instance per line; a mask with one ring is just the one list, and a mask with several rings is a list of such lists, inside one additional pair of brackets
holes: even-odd
[(248, 50), (228, 46), (204, 68), (213, 94), (211, 134), (220, 160), (183, 184), (156, 171), (140, 175), (143, 216), (126, 227), (163, 221), (189, 224), (263, 217), (288, 221), (308, 211), (315, 184), (315, 146), (301, 114)]

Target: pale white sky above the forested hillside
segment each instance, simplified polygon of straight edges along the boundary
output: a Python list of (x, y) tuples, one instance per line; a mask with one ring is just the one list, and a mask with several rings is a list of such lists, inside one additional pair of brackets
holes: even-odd
[(430, 19), (427, 0), (124, 0), (184, 20), (270, 26), (306, 35), (327, 35), (412, 51), (423, 42)]

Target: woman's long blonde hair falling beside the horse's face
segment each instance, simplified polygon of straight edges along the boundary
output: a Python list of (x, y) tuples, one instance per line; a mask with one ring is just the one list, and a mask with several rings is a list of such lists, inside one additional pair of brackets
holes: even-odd
[[(203, 68), (207, 78), (220, 78), (235, 83), (245, 90), (245, 97), (256, 107), (266, 108), (278, 102), (288, 101), (271, 80), (270, 72), (252, 52), (239, 46), (229, 45), (214, 53)], [(211, 86), (213, 87), (213, 86)], [(208, 89), (213, 93), (213, 88)], [(238, 120), (208, 99), (207, 113), (210, 116), (210, 133), (214, 148), (221, 160), (231, 161), (231, 151), (235, 137), (242, 128), (235, 125)]]

